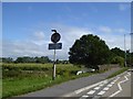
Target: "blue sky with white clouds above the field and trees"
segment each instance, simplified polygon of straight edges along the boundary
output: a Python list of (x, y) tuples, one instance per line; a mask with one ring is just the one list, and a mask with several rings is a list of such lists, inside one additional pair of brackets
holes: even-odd
[(3, 2), (2, 56), (49, 56), (51, 30), (61, 34), (58, 59), (84, 34), (100, 36), (110, 48), (131, 48), (130, 2)]

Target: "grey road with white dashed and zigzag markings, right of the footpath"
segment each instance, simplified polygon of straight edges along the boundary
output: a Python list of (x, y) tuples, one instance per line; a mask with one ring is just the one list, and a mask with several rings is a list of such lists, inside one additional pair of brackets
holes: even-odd
[(79, 92), (74, 97), (80, 97), (80, 99), (132, 99), (131, 77), (131, 73), (125, 72), (112, 79), (91, 85), (88, 90)]

